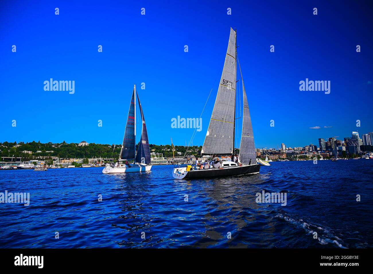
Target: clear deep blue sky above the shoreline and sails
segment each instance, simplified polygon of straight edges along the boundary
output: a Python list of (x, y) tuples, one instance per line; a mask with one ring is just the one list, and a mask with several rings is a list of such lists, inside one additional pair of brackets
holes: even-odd
[[(1, 142), (121, 143), (137, 84), (154, 144), (188, 142), (194, 130), (171, 128), (171, 119), (199, 117), (213, 88), (193, 140), (202, 145), (230, 27), (237, 28), (256, 147), (373, 131), (369, 2), (76, 2), (0, 4)], [(44, 91), (50, 78), (74, 80), (75, 93)], [(330, 81), (330, 94), (300, 91), (305, 78)]]

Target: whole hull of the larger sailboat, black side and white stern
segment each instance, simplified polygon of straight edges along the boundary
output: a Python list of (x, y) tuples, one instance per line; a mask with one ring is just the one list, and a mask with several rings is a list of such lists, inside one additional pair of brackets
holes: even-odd
[(174, 168), (172, 176), (175, 179), (199, 179), (199, 178), (211, 178), (211, 177), (222, 177), (222, 176), (234, 176), (244, 174), (258, 174), (260, 170), (260, 164), (256, 165), (242, 165), (227, 168), (210, 168), (202, 170), (186, 171), (184, 168)]

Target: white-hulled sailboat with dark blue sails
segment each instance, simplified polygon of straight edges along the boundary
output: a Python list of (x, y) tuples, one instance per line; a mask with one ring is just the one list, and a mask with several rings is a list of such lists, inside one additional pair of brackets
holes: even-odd
[[(142, 128), (140, 143), (136, 153), (136, 97), (139, 103)], [(133, 161), (133, 162), (132, 162)], [(142, 113), (142, 107), (140, 99), (136, 91), (136, 85), (134, 85), (134, 91), (132, 93), (131, 104), (129, 105), (127, 124), (124, 131), (122, 149), (120, 149), (119, 160), (116, 164), (107, 165), (102, 173), (128, 173), (128, 172), (142, 172), (150, 171), (150, 149), (148, 141), (148, 133), (145, 125), (144, 114)], [(126, 164), (127, 163), (127, 164)]]

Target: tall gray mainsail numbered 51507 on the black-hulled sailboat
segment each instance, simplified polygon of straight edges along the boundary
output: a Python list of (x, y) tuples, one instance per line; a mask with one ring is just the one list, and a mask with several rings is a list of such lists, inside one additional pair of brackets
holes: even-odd
[(222, 78), (203, 143), (203, 154), (233, 153), (236, 101), (236, 33), (231, 28)]

